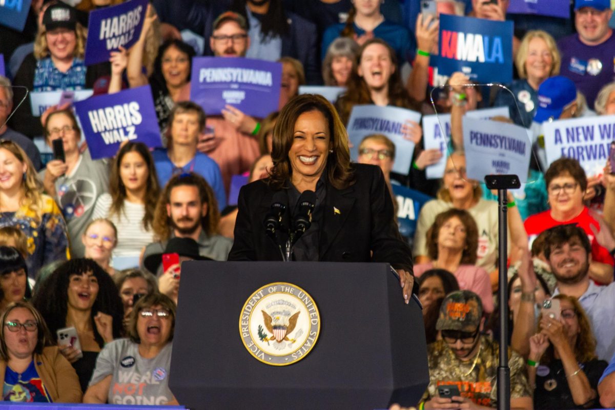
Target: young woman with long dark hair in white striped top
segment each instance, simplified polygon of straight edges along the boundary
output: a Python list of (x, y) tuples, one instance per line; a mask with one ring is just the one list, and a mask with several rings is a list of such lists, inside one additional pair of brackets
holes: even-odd
[(114, 257), (138, 259), (143, 247), (153, 242), (151, 224), (159, 193), (147, 146), (133, 142), (122, 146), (111, 168), (109, 194), (100, 195), (93, 213), (93, 218), (107, 218), (117, 227)]

